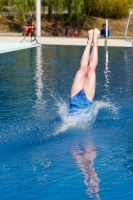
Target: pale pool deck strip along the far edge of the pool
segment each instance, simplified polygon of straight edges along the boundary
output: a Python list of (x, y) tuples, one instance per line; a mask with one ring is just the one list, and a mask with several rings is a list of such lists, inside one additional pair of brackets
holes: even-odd
[[(19, 43), (24, 37), (22, 36), (0, 36), (0, 43)], [(30, 38), (29, 38), (30, 39)], [(40, 44), (47, 45), (77, 45), (85, 46), (86, 38), (64, 38), (64, 37), (37, 37)], [(22, 44), (22, 43), (21, 43)], [(29, 43), (31, 44), (31, 43)], [(7, 44), (6, 44), (7, 45)], [(99, 39), (99, 46), (105, 46), (105, 39)], [(107, 46), (112, 47), (132, 47), (131, 42), (126, 42), (124, 39), (108, 39)]]

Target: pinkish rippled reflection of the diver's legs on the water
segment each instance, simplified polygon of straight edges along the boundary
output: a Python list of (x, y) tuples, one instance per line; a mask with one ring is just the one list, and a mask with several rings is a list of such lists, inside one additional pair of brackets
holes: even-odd
[(77, 165), (84, 175), (84, 184), (87, 187), (87, 194), (90, 198), (100, 200), (98, 192), (100, 191), (100, 179), (94, 168), (94, 159), (96, 158), (96, 149), (93, 145), (87, 146), (85, 149), (72, 150), (72, 155)]

